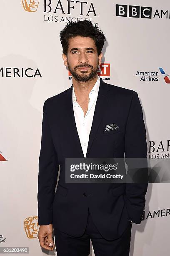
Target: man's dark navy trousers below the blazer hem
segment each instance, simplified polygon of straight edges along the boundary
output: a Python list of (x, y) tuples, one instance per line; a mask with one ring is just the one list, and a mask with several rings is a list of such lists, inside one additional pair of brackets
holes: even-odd
[(132, 224), (118, 239), (108, 241), (103, 238), (88, 212), (87, 226), (83, 236), (73, 237), (54, 228), (57, 256), (88, 256), (90, 239), (95, 256), (129, 256)]

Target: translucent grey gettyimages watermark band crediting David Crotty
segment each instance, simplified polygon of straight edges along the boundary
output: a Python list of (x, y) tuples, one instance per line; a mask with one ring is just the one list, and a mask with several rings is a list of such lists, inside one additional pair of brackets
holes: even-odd
[(67, 158), (66, 183), (170, 183), (170, 159)]

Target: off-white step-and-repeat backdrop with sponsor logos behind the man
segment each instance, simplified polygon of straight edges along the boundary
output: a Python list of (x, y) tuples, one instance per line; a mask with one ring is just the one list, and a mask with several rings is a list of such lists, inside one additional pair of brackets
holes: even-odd
[[(37, 238), (43, 103), (72, 84), (59, 33), (71, 20), (98, 23), (107, 39), (98, 75), (138, 92), (148, 159), (169, 159), (170, 2), (1, 0), (0, 6), (0, 247), (45, 255)], [(166, 179), (149, 184), (141, 224), (132, 227), (131, 256), (169, 255), (169, 194)]]

